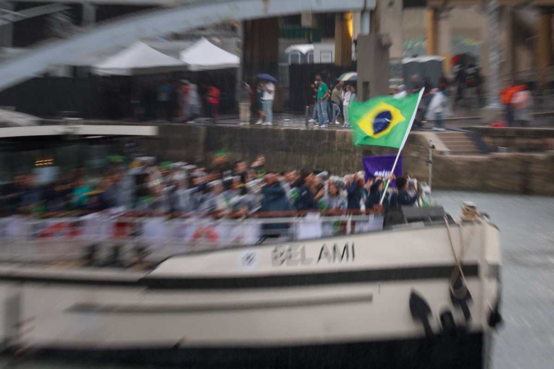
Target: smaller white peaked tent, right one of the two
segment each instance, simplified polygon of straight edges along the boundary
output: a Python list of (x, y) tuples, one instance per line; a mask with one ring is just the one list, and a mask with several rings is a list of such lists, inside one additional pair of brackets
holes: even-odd
[(181, 60), (188, 70), (212, 70), (224, 68), (239, 68), (240, 58), (226, 52), (202, 38), (196, 44), (181, 52)]

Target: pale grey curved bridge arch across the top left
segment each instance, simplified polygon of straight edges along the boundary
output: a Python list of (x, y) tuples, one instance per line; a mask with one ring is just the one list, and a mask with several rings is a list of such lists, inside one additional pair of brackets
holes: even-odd
[(375, 9), (376, 0), (199, 0), (187, 5), (141, 13), (99, 25), (69, 39), (48, 42), (0, 64), (0, 90), (67, 64), (76, 55), (101, 52), (137, 38), (183, 32), (224, 20), (248, 20), (301, 12), (342, 12)]

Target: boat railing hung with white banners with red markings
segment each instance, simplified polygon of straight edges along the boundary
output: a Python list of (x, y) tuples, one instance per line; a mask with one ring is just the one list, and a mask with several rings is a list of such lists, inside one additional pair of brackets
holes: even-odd
[(383, 228), (381, 211), (252, 214), (63, 212), (0, 218), (0, 261), (52, 263), (94, 253), (152, 261), (175, 254), (294, 242)]

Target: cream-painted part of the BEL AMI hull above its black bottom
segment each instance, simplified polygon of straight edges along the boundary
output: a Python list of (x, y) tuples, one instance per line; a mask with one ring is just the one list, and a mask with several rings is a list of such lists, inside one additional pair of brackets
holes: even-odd
[[(4, 321), (18, 328), (2, 333), (12, 345), (59, 350), (420, 347), (430, 341), (411, 315), (415, 291), (434, 335), (445, 336), (439, 316), (450, 311), (467, 332), (456, 340), (482, 342), (499, 299), (498, 231), (483, 222), (463, 234), (469, 321), (450, 299), (455, 259), (438, 226), (183, 255), (148, 274), (4, 265), (0, 294), (16, 306)], [(455, 226), (452, 236), (458, 254)]]

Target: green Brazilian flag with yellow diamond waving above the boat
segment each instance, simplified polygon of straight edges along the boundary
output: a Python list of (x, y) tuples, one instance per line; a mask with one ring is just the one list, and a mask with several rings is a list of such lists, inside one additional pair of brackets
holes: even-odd
[(365, 102), (350, 102), (348, 117), (352, 124), (354, 145), (388, 146), (402, 150), (420, 95), (409, 94), (401, 99), (379, 96)]

